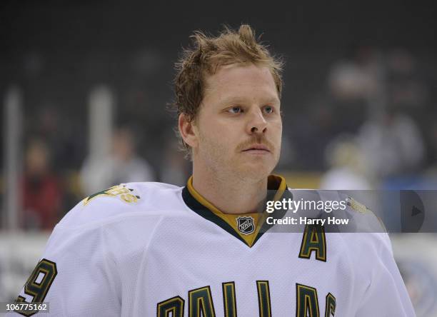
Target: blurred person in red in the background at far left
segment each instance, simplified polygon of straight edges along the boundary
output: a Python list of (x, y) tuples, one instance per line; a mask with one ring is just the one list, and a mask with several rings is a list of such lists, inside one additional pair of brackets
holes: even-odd
[(26, 149), (26, 166), (21, 181), (24, 228), (51, 230), (59, 220), (61, 182), (52, 173), (46, 144), (32, 139)]

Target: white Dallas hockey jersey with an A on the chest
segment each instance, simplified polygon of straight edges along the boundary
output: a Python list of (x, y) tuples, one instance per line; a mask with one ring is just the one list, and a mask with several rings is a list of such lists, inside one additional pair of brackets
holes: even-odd
[(415, 316), (386, 233), (308, 238), (261, 218), (221, 213), (191, 180), (114, 186), (58, 223), (18, 301), (49, 303), (38, 316)]

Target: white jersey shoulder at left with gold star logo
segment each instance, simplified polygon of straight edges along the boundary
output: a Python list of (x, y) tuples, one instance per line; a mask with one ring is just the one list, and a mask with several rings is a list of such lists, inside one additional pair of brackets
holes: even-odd
[(121, 183), (84, 198), (57, 226), (102, 225), (129, 216), (171, 216), (184, 210), (181, 191), (168, 183)]

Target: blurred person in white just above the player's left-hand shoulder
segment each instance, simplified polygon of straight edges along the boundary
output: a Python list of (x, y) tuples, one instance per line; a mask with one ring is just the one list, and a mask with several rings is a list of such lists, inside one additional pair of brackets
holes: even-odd
[(127, 127), (114, 132), (109, 157), (87, 158), (81, 169), (81, 185), (86, 195), (119, 183), (154, 180), (149, 163), (136, 154), (134, 134)]

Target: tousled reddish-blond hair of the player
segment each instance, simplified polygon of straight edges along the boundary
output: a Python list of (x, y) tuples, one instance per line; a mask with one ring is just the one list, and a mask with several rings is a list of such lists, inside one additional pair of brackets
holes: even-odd
[[(247, 24), (238, 31), (224, 26), (218, 36), (207, 36), (201, 31), (195, 31), (191, 37), (193, 47), (185, 49), (181, 59), (175, 64), (176, 78), (174, 80), (174, 107), (178, 115), (185, 114), (189, 121), (199, 114), (201, 101), (204, 99), (206, 76), (213, 75), (218, 67), (228, 64), (247, 64), (267, 66), (273, 76), (281, 99), (283, 61), (270, 54), (266, 45)], [(182, 141), (182, 140), (181, 140)], [(185, 149), (189, 146), (182, 141)]]

